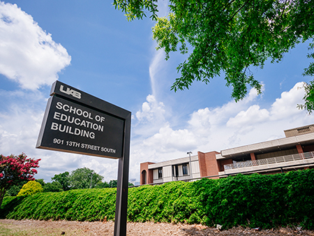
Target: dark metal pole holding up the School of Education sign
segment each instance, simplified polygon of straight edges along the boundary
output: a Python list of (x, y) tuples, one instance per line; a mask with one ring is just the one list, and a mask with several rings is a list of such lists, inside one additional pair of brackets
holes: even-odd
[(130, 115), (124, 127), (123, 157), (119, 158), (114, 236), (126, 236), (128, 213), (128, 168), (130, 159)]

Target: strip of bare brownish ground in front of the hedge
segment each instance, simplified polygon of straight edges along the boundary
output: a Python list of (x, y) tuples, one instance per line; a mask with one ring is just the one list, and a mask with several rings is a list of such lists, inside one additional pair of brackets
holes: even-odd
[[(108, 222), (79, 222), (79, 221), (15, 221), (0, 219), (0, 236), (15, 235), (113, 235), (114, 223)], [(172, 223), (128, 223), (126, 235), (149, 236), (190, 236), (190, 235), (308, 235), (314, 236), (314, 231), (301, 228), (278, 228), (268, 230), (256, 230), (251, 228), (232, 228), (230, 230), (217, 230), (202, 225), (186, 225)]]

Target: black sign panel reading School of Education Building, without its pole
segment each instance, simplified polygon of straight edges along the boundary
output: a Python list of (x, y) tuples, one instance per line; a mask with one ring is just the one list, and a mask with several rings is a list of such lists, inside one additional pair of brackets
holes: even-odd
[(36, 147), (121, 158), (126, 114), (130, 112), (57, 81)]

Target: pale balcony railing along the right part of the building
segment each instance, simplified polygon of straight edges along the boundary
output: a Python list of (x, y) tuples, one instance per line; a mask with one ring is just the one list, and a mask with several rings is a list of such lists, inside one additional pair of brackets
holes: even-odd
[(314, 158), (314, 152), (305, 152), (302, 154), (293, 154), (293, 155), (287, 155), (287, 156), (276, 156), (273, 158), (266, 158), (266, 159), (260, 159), (260, 160), (254, 160), (254, 161), (241, 161), (233, 164), (224, 165), (225, 170), (232, 170), (232, 169), (238, 169), (238, 168), (246, 168), (256, 165), (269, 165), (269, 164), (275, 164), (275, 163), (284, 163), (289, 161), (299, 161), (299, 160), (305, 160), (309, 158)]

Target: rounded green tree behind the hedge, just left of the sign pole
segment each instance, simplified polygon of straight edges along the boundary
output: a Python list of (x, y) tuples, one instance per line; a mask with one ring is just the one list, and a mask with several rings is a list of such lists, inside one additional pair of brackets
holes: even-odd
[(103, 180), (101, 175), (98, 175), (94, 170), (89, 168), (78, 168), (73, 170), (70, 174), (70, 188), (71, 189), (89, 189), (94, 188), (99, 182)]

